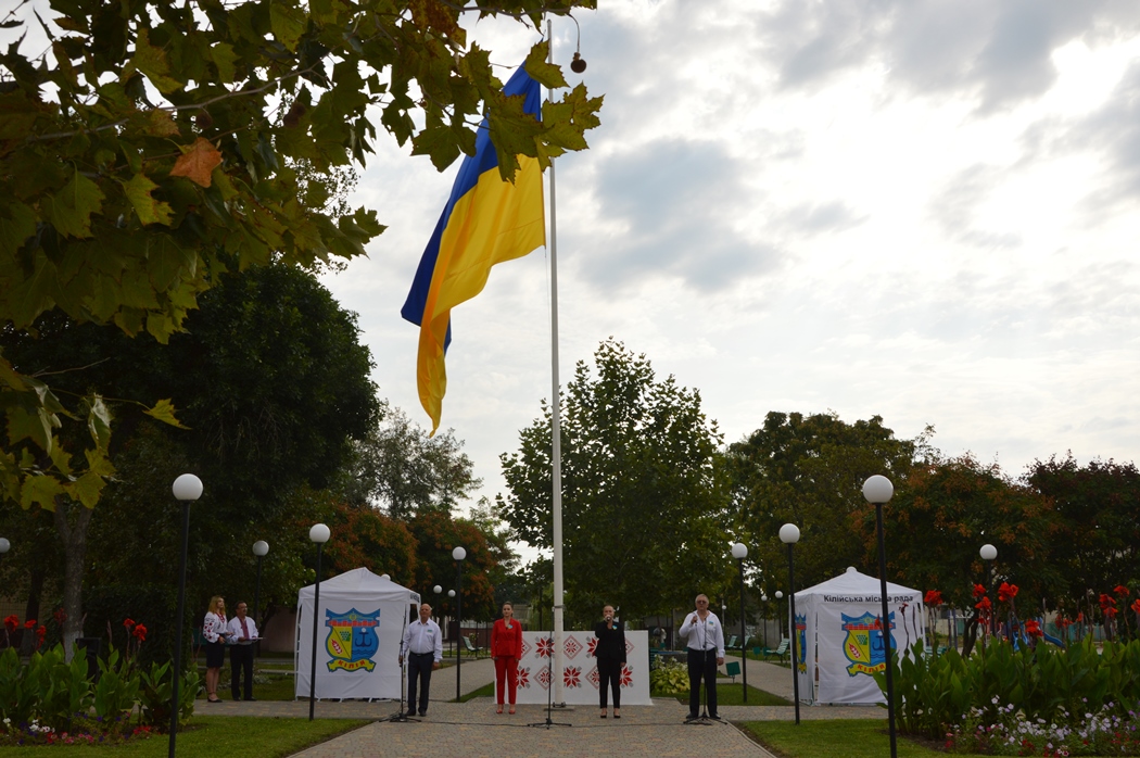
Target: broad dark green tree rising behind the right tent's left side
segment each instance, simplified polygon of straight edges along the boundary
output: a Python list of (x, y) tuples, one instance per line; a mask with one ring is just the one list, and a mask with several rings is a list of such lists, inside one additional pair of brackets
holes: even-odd
[(762, 567), (762, 588), (769, 595), (787, 589), (787, 553), (777, 535), (788, 522), (801, 535), (798, 585), (823, 581), (848, 565), (874, 565), (856, 530), (863, 482), (885, 474), (897, 487), (925, 441), (896, 439), (881, 416), (848, 424), (833, 413), (771, 411), (763, 427), (730, 446), (734, 516), (756, 548), (749, 562)]

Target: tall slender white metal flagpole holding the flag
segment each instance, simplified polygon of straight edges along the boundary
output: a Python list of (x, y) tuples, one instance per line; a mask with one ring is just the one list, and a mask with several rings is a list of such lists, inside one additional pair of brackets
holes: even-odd
[[(551, 42), (549, 63), (554, 63), (554, 31), (546, 19)], [(553, 92), (547, 90), (553, 99)], [(554, 704), (565, 706), (562, 690), (562, 434), (559, 397), (559, 234), (554, 196), (554, 160), (551, 158), (551, 504), (554, 511)]]

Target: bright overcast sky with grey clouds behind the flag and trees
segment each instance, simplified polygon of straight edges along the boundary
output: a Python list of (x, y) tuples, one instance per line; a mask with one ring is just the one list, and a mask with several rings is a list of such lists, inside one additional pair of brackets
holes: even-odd
[[(1140, 458), (1140, 3), (621, 0), (578, 21), (605, 105), (556, 168), (563, 383), (613, 336), (699, 389), (727, 442), (833, 410), (931, 424), (1012, 475)], [(472, 27), (505, 65), (536, 40)], [(570, 75), (573, 23), (554, 35)], [(456, 168), (382, 141), (357, 201), (390, 229), (326, 277), (424, 426), (399, 309)], [(551, 397), (548, 262), (496, 267), (453, 311), (442, 427), (490, 497)]]

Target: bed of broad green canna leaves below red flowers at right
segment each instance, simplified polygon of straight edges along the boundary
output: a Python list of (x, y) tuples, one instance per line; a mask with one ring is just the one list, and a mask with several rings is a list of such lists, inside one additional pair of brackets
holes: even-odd
[[(886, 691), (886, 677), (874, 677)], [(899, 731), (934, 739), (971, 714), (986, 724), (1016, 714), (1047, 724), (1105, 709), (1124, 716), (1140, 702), (1140, 641), (1108, 642), (1102, 651), (1091, 641), (1019, 650), (997, 643), (969, 658), (956, 650), (923, 655), (915, 643), (898, 661), (894, 685)]]

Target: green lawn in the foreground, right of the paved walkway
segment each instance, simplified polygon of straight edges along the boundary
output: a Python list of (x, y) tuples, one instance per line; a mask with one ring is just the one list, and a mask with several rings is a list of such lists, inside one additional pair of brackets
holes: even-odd
[[(799, 726), (793, 722), (747, 722), (741, 726), (780, 758), (881, 758), (890, 755), (886, 719), (800, 722)], [(899, 758), (946, 755), (901, 735), (896, 745)]]

